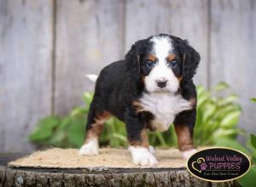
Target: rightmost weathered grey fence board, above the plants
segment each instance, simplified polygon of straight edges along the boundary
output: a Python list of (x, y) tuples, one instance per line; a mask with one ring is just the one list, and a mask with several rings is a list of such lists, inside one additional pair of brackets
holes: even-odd
[(240, 127), (255, 133), (256, 2), (212, 1), (211, 84), (228, 82), (240, 96), (243, 114)]

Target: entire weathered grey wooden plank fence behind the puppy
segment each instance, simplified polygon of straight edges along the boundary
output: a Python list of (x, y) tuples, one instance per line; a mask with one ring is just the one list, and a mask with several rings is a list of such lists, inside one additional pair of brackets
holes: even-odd
[(0, 0), (0, 151), (32, 150), (39, 118), (83, 104), (85, 74), (159, 32), (189, 40), (201, 54), (195, 82), (228, 82), (240, 127), (256, 133), (255, 0)]

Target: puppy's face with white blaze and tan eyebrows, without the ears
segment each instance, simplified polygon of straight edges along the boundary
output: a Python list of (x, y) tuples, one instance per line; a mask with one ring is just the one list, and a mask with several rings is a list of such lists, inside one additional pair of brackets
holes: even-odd
[(144, 86), (149, 93), (177, 93), (183, 59), (172, 43), (168, 35), (148, 38), (139, 61)]

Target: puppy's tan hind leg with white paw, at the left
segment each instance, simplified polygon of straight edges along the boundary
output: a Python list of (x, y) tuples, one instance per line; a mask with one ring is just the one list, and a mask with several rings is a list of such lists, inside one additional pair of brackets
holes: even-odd
[(98, 139), (102, 133), (103, 123), (108, 120), (109, 116), (110, 113), (108, 111), (96, 111), (94, 103), (91, 103), (84, 145), (79, 150), (79, 155), (93, 156), (99, 154)]

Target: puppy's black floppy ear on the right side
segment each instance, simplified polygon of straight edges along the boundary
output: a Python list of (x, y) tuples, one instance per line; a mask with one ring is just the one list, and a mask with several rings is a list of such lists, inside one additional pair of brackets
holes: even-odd
[(183, 54), (183, 79), (190, 80), (194, 77), (200, 62), (200, 54), (189, 45), (187, 40), (180, 40), (178, 50)]

